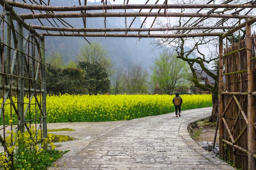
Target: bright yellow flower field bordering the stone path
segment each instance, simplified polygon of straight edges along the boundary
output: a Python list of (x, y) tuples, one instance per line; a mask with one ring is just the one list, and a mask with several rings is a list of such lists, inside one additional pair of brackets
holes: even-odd
[[(182, 110), (211, 107), (211, 95), (180, 95)], [(47, 122), (103, 122), (131, 120), (175, 111), (174, 95), (69, 95), (47, 96)], [(15, 99), (13, 99), (15, 101)], [(28, 98), (24, 98), (28, 102)], [(8, 101), (7, 101), (8, 102)], [(32, 101), (33, 103), (33, 101)], [(26, 114), (27, 120), (40, 117), (37, 105)], [(5, 122), (9, 123), (10, 108), (5, 107)], [(36, 115), (35, 115), (36, 112)], [(13, 123), (17, 118), (13, 116)], [(1, 122), (2, 123), (2, 118)]]

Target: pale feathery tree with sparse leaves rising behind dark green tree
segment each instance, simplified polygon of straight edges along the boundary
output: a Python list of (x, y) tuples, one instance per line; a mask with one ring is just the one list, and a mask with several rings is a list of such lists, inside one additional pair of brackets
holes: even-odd
[(85, 44), (80, 48), (80, 54), (77, 58), (80, 61), (89, 61), (90, 63), (98, 63), (101, 67), (105, 68), (109, 76), (114, 74), (112, 70), (113, 64), (108, 56), (108, 50), (101, 46), (97, 42), (92, 42), (91, 44)]

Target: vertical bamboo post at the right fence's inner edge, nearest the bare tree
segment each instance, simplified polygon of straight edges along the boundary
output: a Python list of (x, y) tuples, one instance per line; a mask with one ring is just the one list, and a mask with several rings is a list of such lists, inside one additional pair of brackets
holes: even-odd
[(220, 145), (220, 157), (225, 156), (225, 147), (222, 139), (224, 139), (224, 123), (222, 120), (222, 113), (224, 112), (224, 95), (223, 92), (223, 39), (219, 40), (219, 145)]

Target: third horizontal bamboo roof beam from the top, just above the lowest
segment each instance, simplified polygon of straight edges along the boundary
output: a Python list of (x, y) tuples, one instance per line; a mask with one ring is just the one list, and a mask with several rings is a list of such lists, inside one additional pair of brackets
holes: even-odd
[(230, 29), (233, 26), (175, 26), (161, 28), (60, 28), (53, 26), (30, 25), (31, 28), (47, 31), (70, 31), (70, 32), (143, 32), (143, 31), (172, 31), (172, 30), (203, 30), (203, 29)]

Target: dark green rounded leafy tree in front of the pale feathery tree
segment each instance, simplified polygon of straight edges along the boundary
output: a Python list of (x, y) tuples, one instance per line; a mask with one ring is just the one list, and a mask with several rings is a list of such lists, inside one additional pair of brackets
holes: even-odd
[(79, 61), (78, 68), (83, 70), (85, 87), (90, 95), (106, 93), (110, 90), (108, 73), (100, 64), (89, 61)]

